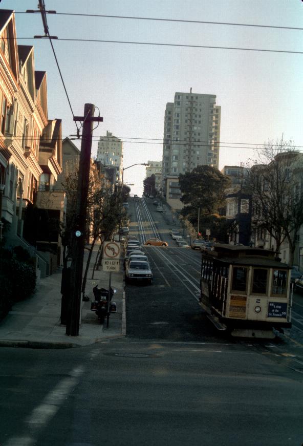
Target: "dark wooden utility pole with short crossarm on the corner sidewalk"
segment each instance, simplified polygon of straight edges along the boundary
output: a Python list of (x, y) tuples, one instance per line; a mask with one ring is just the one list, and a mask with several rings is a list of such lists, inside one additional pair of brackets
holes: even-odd
[(70, 300), (67, 314), (66, 334), (79, 335), (81, 314), (81, 284), (83, 273), (86, 208), (88, 204), (89, 177), (92, 152), (93, 123), (103, 121), (95, 118), (95, 105), (84, 105), (84, 116), (74, 116), (74, 121), (83, 122), (82, 142), (79, 162), (79, 177), (76, 203), (76, 227), (72, 235), (72, 264), (70, 276)]

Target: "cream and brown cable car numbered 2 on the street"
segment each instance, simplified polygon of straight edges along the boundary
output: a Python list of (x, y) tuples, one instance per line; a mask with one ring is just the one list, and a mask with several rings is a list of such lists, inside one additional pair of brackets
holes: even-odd
[(202, 251), (200, 305), (233, 336), (274, 338), (291, 327), (290, 275), (274, 251), (216, 244)]

